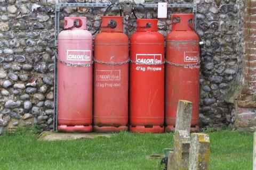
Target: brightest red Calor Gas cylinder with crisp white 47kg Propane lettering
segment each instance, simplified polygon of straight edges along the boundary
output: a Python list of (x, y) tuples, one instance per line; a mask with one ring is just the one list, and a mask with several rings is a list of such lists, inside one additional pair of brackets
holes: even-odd
[(164, 37), (157, 19), (138, 19), (131, 36), (130, 131), (164, 132)]

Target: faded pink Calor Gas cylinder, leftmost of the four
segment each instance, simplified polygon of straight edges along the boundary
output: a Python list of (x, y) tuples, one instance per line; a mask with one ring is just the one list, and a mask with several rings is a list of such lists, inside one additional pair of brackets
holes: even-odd
[(92, 35), (86, 17), (65, 17), (58, 36), (58, 131), (92, 131)]

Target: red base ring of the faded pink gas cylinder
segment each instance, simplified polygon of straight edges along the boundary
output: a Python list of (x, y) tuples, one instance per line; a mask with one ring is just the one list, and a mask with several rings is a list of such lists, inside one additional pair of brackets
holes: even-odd
[(59, 132), (92, 132), (92, 125), (84, 126), (84, 125), (76, 125), (76, 126), (67, 126), (67, 125), (59, 125)]

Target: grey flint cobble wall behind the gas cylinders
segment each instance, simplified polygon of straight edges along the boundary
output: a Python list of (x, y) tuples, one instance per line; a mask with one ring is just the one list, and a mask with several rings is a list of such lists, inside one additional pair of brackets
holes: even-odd
[[(222, 127), (234, 123), (233, 108), (224, 98), (236, 75), (242, 72), (244, 22), (241, 16), (245, 0), (173, 0), (169, 3), (198, 5), (197, 33), (205, 42), (201, 49), (201, 125)], [(53, 52), (57, 50), (54, 46), (54, 5), (54, 0), (0, 0), (0, 122), (3, 126), (10, 123), (19, 126), (23, 121), (45, 130), (53, 129)], [(94, 32), (105, 10), (63, 8), (60, 27), (63, 28), (65, 16), (86, 16), (87, 29)], [(159, 19), (158, 25), (170, 24), (171, 13), (188, 12), (191, 10), (169, 9), (168, 18)], [(138, 18), (144, 16), (143, 10), (136, 13)], [(108, 14), (119, 15), (119, 8), (112, 8)], [(148, 10), (147, 16), (157, 18), (157, 9)], [(135, 24), (132, 16), (130, 35), (135, 31)], [(164, 36), (170, 30), (171, 27), (159, 27)], [(27, 121), (30, 119), (33, 121)]]

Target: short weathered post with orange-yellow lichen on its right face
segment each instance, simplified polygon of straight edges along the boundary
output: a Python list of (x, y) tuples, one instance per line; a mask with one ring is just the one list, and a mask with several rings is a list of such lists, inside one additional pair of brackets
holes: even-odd
[(209, 135), (192, 133), (189, 149), (189, 170), (209, 170), (209, 157)]

